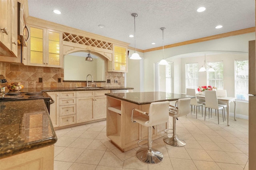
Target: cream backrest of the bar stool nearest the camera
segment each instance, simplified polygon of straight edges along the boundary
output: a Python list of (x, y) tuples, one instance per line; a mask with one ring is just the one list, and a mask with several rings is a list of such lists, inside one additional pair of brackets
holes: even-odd
[(154, 126), (165, 123), (169, 120), (169, 101), (152, 102), (149, 106), (148, 125)]

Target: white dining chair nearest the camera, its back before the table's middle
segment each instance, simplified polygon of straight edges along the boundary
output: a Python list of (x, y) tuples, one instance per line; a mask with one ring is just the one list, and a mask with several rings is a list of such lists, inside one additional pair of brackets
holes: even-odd
[(204, 120), (206, 117), (206, 108), (209, 111), (209, 118), (210, 118), (210, 109), (216, 109), (218, 112), (218, 124), (219, 124), (219, 110), (222, 109), (222, 119), (224, 122), (224, 106), (218, 104), (217, 93), (216, 91), (212, 90), (205, 90), (205, 111), (204, 111)]

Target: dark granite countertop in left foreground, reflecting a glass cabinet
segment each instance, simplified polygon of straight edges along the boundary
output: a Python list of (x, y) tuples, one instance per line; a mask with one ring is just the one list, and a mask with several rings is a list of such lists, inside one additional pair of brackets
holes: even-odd
[(43, 99), (0, 102), (0, 158), (53, 145), (56, 141)]

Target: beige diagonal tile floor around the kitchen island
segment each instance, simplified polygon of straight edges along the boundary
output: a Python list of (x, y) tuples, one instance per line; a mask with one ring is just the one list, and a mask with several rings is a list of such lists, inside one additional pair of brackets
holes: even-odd
[[(172, 127), (172, 117), (169, 119)], [(176, 121), (184, 147), (172, 147), (163, 139), (153, 141), (164, 159), (146, 164), (135, 149), (121, 152), (106, 137), (106, 121), (56, 130), (54, 170), (248, 170), (248, 120), (220, 124), (215, 114), (206, 118), (188, 114)]]

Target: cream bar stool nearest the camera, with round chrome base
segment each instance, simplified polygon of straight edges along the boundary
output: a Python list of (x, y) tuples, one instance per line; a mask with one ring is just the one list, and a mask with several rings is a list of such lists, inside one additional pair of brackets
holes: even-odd
[[(138, 145), (141, 141), (147, 140), (148, 148), (141, 148), (137, 151), (136, 155), (139, 160), (148, 164), (156, 164), (162, 161), (163, 154), (155, 149), (152, 149), (152, 126), (159, 125), (168, 121), (168, 109), (170, 102), (153, 102), (150, 104), (149, 112), (142, 111), (140, 109), (132, 109), (132, 123), (139, 123), (148, 127), (148, 139), (142, 139), (138, 141)], [(134, 111), (142, 113), (141, 115), (133, 116)]]

